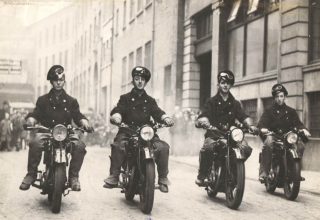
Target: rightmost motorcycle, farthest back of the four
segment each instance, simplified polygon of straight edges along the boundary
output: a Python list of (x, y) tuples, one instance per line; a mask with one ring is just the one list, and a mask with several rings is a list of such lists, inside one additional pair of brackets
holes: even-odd
[[(271, 167), (267, 178), (261, 183), (265, 184), (266, 190), (273, 193), (276, 188), (283, 188), (285, 197), (288, 200), (295, 200), (300, 191), (300, 182), (304, 181), (301, 177), (301, 156), (298, 154), (295, 144), (299, 138), (307, 142), (308, 138), (302, 131), (296, 128), (290, 129), (282, 134), (268, 131), (265, 136), (272, 135), (275, 144), (272, 149)], [(259, 155), (261, 163), (262, 153)]]

